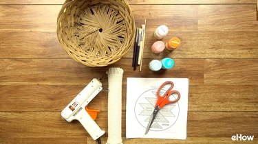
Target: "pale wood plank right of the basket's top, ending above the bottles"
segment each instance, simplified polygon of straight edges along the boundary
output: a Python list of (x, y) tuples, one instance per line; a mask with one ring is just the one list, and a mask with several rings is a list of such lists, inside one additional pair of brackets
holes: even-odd
[(180, 32), (197, 30), (198, 5), (131, 5), (131, 9), (136, 27), (147, 19), (147, 31), (154, 32), (159, 25), (167, 25)]

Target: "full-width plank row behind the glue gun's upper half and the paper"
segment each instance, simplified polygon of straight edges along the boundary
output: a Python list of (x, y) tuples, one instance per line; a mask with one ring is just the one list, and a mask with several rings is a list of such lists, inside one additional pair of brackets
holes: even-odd
[[(85, 85), (1, 85), (0, 111), (61, 111)], [(107, 89), (107, 80), (103, 80)], [(126, 110), (126, 84), (122, 85), (122, 110)], [(257, 86), (189, 86), (189, 111), (258, 111)], [(19, 95), (17, 95), (19, 94)], [(107, 110), (107, 92), (99, 93), (89, 108)], [(19, 102), (17, 102), (19, 101)]]

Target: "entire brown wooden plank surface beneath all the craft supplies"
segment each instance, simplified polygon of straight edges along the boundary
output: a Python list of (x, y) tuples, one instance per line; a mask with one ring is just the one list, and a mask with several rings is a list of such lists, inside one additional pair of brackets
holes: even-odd
[[(132, 49), (109, 67), (89, 68), (69, 58), (58, 43), (56, 17), (64, 0), (0, 1), (0, 143), (96, 143), (61, 110), (94, 77), (109, 67), (124, 69), (122, 137), (127, 143), (258, 143), (257, 0), (129, 0), (140, 27), (147, 19), (142, 72), (131, 68)], [(182, 38), (173, 53), (154, 55), (153, 32), (167, 25)], [(175, 67), (149, 71), (147, 63), (170, 56)], [(187, 139), (125, 139), (126, 77), (189, 77)], [(107, 80), (103, 80), (107, 88)], [(100, 109), (96, 123), (106, 131), (107, 92), (89, 108)]]

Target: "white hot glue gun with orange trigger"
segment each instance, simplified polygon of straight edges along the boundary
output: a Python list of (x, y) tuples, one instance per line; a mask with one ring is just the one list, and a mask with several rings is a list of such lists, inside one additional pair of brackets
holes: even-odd
[(100, 141), (99, 138), (105, 131), (101, 130), (94, 121), (96, 117), (89, 115), (86, 106), (98, 95), (102, 88), (102, 83), (94, 78), (61, 112), (61, 116), (68, 122), (74, 119), (80, 121), (85, 130), (92, 136), (92, 139), (98, 139), (98, 141)]

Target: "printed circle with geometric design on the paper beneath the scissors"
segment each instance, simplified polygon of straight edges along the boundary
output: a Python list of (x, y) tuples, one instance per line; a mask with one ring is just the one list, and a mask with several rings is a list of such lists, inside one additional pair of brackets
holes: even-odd
[[(157, 100), (157, 91), (158, 88), (145, 91), (136, 101), (134, 113), (138, 123), (140, 123), (143, 128), (147, 128), (149, 124), (149, 119), (151, 118)], [(165, 90), (162, 89), (160, 92), (165, 93)], [(151, 125), (150, 131), (162, 131), (171, 128), (178, 120), (179, 114), (180, 106), (178, 102), (175, 104), (167, 104), (158, 112), (158, 115)]]

